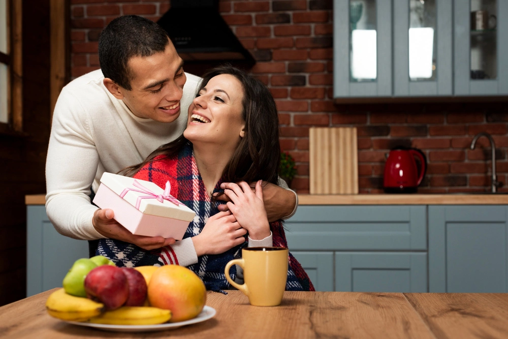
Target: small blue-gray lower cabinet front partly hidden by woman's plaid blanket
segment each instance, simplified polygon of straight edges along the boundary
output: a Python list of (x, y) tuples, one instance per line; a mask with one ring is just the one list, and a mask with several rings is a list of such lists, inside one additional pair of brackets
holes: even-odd
[(291, 254), (302, 265), (316, 291), (333, 291), (332, 252), (293, 252)]

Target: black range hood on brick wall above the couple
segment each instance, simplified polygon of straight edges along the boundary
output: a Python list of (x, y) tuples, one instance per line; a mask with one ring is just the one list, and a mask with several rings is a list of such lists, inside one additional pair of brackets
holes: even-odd
[(172, 0), (170, 10), (157, 23), (168, 32), (186, 71), (201, 68), (190, 71), (201, 75), (204, 69), (223, 63), (243, 69), (256, 64), (220, 16), (218, 0)]

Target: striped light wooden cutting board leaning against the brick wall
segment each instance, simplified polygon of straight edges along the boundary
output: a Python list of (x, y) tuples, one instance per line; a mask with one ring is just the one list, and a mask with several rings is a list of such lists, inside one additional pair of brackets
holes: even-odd
[(358, 194), (355, 127), (309, 128), (310, 194)]

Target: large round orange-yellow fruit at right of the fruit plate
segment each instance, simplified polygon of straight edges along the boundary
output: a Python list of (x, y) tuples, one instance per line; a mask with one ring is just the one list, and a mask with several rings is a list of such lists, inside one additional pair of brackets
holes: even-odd
[(206, 288), (199, 276), (179, 265), (165, 265), (153, 272), (148, 284), (150, 305), (171, 310), (171, 322), (195, 318), (206, 302)]

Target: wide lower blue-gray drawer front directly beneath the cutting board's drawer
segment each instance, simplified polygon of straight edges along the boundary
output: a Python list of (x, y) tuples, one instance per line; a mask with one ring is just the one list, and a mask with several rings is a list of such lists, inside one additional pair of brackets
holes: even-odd
[(335, 291), (427, 292), (427, 253), (335, 253)]

